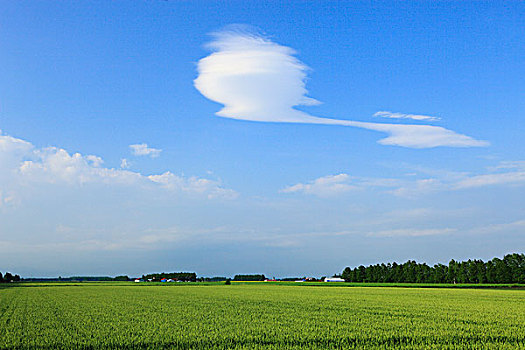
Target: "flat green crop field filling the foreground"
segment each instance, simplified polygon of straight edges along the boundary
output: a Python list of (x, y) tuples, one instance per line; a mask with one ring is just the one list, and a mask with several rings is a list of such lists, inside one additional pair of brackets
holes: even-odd
[(525, 349), (525, 291), (47, 283), (0, 289), (1, 349)]

